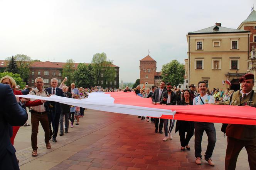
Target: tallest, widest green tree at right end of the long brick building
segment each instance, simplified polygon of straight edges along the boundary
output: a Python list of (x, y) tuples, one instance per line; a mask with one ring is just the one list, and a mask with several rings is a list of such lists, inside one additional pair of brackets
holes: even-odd
[(115, 78), (115, 68), (112, 67), (112, 60), (107, 59), (106, 53), (96, 53), (93, 55), (92, 65), (96, 75), (96, 82), (99, 84), (101, 73), (104, 74), (104, 84), (106, 81), (113, 81)]

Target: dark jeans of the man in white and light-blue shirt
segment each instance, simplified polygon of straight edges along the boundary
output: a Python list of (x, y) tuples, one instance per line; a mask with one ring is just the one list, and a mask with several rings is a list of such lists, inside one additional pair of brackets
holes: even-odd
[(204, 131), (208, 137), (207, 150), (204, 155), (204, 159), (208, 160), (212, 157), (212, 152), (216, 143), (216, 130), (213, 123), (195, 122), (195, 157), (202, 157), (202, 137)]

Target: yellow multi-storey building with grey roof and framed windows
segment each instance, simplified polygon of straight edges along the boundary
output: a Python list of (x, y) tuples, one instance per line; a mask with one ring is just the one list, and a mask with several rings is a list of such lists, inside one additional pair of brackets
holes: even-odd
[[(221, 23), (187, 34), (188, 83), (205, 81), (208, 88), (240, 88), (248, 70), (250, 32), (221, 27)], [(223, 81), (229, 80), (232, 86)], [(223, 81), (222, 81), (223, 80)]]

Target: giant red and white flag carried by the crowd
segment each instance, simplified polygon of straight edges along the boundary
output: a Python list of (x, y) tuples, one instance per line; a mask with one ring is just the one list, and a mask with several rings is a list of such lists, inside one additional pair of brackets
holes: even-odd
[(90, 93), (88, 98), (82, 100), (56, 95), (51, 97), (36, 95), (17, 96), (130, 115), (166, 119), (172, 119), (174, 115), (175, 120), (256, 125), (256, 108), (254, 107), (229, 105), (153, 105), (151, 98), (141, 98), (135, 95), (134, 92)]

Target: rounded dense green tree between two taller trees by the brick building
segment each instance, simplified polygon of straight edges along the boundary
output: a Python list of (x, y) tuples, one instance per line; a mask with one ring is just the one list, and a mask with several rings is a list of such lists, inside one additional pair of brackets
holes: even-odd
[(96, 76), (91, 64), (80, 63), (74, 71), (74, 81), (77, 87), (91, 87), (96, 85)]

